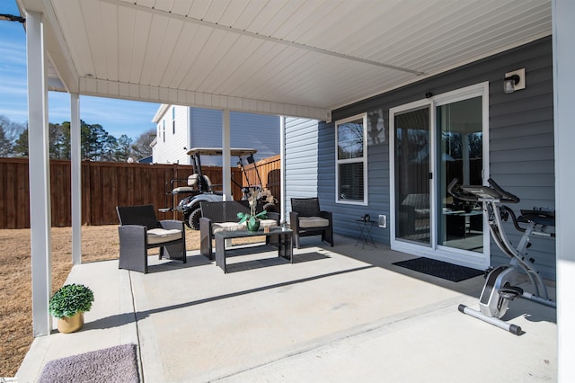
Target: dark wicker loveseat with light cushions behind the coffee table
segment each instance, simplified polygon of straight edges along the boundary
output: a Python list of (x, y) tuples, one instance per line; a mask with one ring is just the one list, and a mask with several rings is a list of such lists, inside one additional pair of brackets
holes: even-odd
[[(212, 239), (214, 234), (222, 230), (245, 230), (245, 223), (239, 224), (237, 213), (249, 213), (250, 207), (245, 200), (226, 200), (217, 202), (203, 201), (201, 218), (199, 218), (199, 252), (213, 260)], [(261, 209), (257, 209), (261, 211)], [(279, 226), (279, 214), (267, 212), (268, 218), (261, 219), (260, 227)], [(267, 239), (269, 237), (266, 237)]]

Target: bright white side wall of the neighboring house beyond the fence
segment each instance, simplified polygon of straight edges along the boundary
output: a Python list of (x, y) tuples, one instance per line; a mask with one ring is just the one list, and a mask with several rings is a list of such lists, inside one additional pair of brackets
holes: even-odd
[[(175, 129), (173, 110), (175, 109)], [(165, 130), (164, 130), (165, 126)], [(188, 107), (170, 105), (156, 125), (156, 144), (153, 149), (156, 164), (189, 165), (188, 147)]]

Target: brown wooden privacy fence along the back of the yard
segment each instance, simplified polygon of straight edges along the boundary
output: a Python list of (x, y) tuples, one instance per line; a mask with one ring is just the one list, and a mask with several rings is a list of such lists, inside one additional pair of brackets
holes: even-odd
[[(279, 165), (279, 161), (272, 161), (272, 163)], [(243, 183), (241, 169), (233, 167), (231, 170), (233, 180), (243, 185), (247, 184)], [(274, 170), (276, 169), (268, 169), (267, 173), (273, 173)], [(72, 225), (70, 172), (70, 161), (50, 160), (52, 227)], [(166, 191), (171, 191), (171, 180), (182, 180), (179, 184), (181, 186), (192, 172), (191, 165), (85, 161), (82, 163), (82, 224), (118, 224), (116, 214), (118, 205), (151, 203), (156, 211), (169, 207), (172, 203), (170, 200), (172, 195), (166, 194)], [(221, 167), (202, 166), (202, 173), (208, 175), (212, 183), (222, 183)], [(273, 183), (276, 183), (275, 179)], [(30, 192), (34, 198), (34, 191), (30, 191), (29, 186), (28, 158), (0, 158), (0, 185), (2, 185), (0, 188), (0, 229), (30, 227)], [(266, 186), (265, 183), (264, 186)], [(232, 183), (232, 193), (234, 199), (239, 200), (242, 197), (240, 187), (234, 183)], [(43, 196), (39, 194), (38, 198), (43, 198)], [(177, 203), (177, 200), (174, 200), (174, 203)], [(157, 212), (157, 214), (160, 219), (178, 218), (177, 213), (173, 212)]]

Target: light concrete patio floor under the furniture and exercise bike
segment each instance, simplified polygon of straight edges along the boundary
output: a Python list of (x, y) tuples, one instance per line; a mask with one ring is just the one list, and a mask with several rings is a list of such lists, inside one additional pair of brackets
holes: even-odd
[(556, 381), (553, 308), (511, 302), (504, 319), (525, 334), (509, 334), (457, 310), (478, 307), (482, 276), (441, 280), (392, 264), (412, 255), (355, 243), (303, 238), (294, 264), (244, 249), (227, 274), (197, 251), (187, 264), (154, 256), (148, 274), (118, 261), (75, 266), (67, 282), (96, 299), (84, 329), (36, 338), (18, 382), (36, 381), (47, 361), (123, 343), (137, 343), (141, 380), (154, 383)]

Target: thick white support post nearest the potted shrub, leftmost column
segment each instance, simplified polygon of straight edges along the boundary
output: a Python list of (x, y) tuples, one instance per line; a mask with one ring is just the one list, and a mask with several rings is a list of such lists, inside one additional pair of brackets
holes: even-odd
[(48, 90), (41, 13), (26, 14), (26, 50), (28, 53), (32, 327), (33, 335), (40, 336), (50, 334), (52, 328), (52, 317), (48, 311), (52, 290)]

